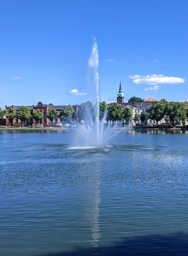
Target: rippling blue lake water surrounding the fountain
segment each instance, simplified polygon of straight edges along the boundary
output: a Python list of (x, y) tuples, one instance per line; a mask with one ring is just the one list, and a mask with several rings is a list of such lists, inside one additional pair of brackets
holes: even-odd
[(75, 130), (0, 131), (1, 255), (188, 255), (187, 141), (124, 130), (96, 149)]

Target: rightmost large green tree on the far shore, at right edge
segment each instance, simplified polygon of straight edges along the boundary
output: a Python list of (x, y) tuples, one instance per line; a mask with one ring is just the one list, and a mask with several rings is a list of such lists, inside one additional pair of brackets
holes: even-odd
[(172, 101), (168, 104), (167, 115), (170, 120), (172, 120), (172, 125), (174, 126), (175, 120), (184, 121), (187, 113), (187, 105), (184, 102)]

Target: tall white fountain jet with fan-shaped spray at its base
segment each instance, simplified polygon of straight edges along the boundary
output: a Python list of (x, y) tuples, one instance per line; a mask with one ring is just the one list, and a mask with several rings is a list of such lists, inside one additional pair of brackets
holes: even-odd
[[(95, 111), (87, 107), (85, 115), (85, 125), (79, 125), (78, 136), (86, 145), (101, 146), (109, 139), (115, 136), (120, 130), (116, 126), (111, 127), (111, 124), (106, 124), (106, 111), (103, 120), (99, 119), (99, 56), (97, 40), (94, 37), (91, 56), (88, 61), (89, 72), (87, 79), (91, 92), (91, 98), (96, 100)], [(95, 113), (93, 113), (95, 112)]]

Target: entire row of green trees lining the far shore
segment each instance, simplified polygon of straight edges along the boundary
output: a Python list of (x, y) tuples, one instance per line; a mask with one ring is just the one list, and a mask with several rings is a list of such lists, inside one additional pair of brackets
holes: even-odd
[[(14, 118), (18, 118), (25, 123), (27, 119), (33, 118), (36, 123), (38, 123), (39, 120), (43, 118), (43, 114), (39, 109), (34, 110), (33, 115), (31, 115), (29, 107), (27, 106), (21, 106), (18, 111), (12, 107), (8, 108), (6, 111), (0, 108), (0, 119), (2, 119), (5, 114), (11, 122)], [(45, 115), (51, 123), (57, 117), (69, 123), (73, 119), (73, 115), (78, 118), (78, 121), (94, 122), (97, 115), (99, 115), (99, 120), (105, 119), (107, 123), (108, 121), (115, 122), (117, 120), (125, 120), (125, 123), (128, 124), (131, 120), (132, 112), (129, 107), (122, 109), (121, 105), (117, 102), (112, 102), (107, 105), (105, 101), (102, 101), (98, 105), (87, 101), (78, 106), (78, 113), (74, 113), (74, 108), (69, 104), (66, 108), (63, 108), (59, 114), (52, 108), (49, 109)], [(158, 125), (158, 122), (164, 118), (164, 116), (167, 116), (165, 118), (166, 121), (172, 121), (173, 126), (175, 120), (182, 120), (182, 122), (184, 122), (185, 119), (188, 119), (188, 106), (183, 102), (169, 103), (166, 99), (161, 99), (153, 102), (152, 106), (148, 108), (147, 114), (141, 112), (139, 117), (138, 114), (135, 114), (134, 120), (136, 122), (141, 120), (141, 122), (144, 123), (146, 120), (152, 119), (155, 120)]]

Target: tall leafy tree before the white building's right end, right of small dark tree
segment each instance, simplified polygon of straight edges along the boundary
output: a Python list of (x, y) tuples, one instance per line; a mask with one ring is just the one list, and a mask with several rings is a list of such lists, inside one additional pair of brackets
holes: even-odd
[(167, 111), (168, 102), (165, 99), (160, 101), (154, 101), (153, 105), (149, 107), (147, 111), (147, 119), (155, 120), (158, 126), (158, 122), (164, 117)]

